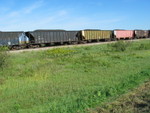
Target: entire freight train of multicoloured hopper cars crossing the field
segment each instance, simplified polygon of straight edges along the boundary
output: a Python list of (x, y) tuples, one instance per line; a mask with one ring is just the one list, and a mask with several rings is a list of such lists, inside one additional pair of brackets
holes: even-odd
[(93, 41), (150, 38), (150, 30), (35, 30), (0, 32), (0, 46), (10, 49), (37, 48), (58, 44), (78, 44)]

